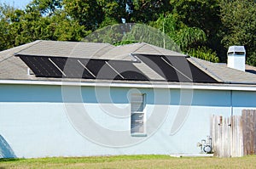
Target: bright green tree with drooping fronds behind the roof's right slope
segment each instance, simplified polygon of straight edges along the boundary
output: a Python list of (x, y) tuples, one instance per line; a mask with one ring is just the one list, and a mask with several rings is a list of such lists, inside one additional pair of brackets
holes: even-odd
[(189, 54), (196, 58), (218, 62), (218, 56), (211, 48), (207, 48), (207, 36), (198, 27), (189, 27), (178, 21), (174, 14), (160, 15), (160, 18), (150, 25), (158, 28), (168, 35), (184, 54)]

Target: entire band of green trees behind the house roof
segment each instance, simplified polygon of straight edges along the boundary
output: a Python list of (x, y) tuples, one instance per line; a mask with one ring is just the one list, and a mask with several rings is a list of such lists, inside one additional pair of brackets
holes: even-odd
[(229, 46), (244, 45), (247, 64), (256, 65), (255, 28), (254, 0), (32, 0), (25, 9), (0, 3), (0, 50), (38, 39), (80, 41), (95, 31), (92, 42), (136, 39), (215, 61), (216, 54), (225, 61)]

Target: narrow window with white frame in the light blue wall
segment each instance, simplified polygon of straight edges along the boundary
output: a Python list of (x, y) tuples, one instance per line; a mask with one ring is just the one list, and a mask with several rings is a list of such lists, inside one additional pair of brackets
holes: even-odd
[(131, 135), (145, 136), (145, 94), (131, 94)]

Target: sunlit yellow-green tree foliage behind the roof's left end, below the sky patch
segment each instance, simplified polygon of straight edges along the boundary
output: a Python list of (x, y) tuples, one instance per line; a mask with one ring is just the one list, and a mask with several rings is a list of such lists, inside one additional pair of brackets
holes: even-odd
[(59, 8), (61, 1), (50, 2), (51, 5), (49, 0), (34, 0), (25, 10), (6, 4), (0, 5), (0, 49), (12, 48), (38, 39), (80, 41), (87, 33), (84, 26), (70, 19), (67, 13)]

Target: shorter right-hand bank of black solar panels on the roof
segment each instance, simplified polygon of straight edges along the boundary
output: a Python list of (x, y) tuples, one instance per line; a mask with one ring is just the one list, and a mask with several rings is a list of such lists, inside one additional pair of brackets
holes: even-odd
[(217, 82), (185, 57), (146, 54), (137, 54), (137, 57), (168, 82)]

